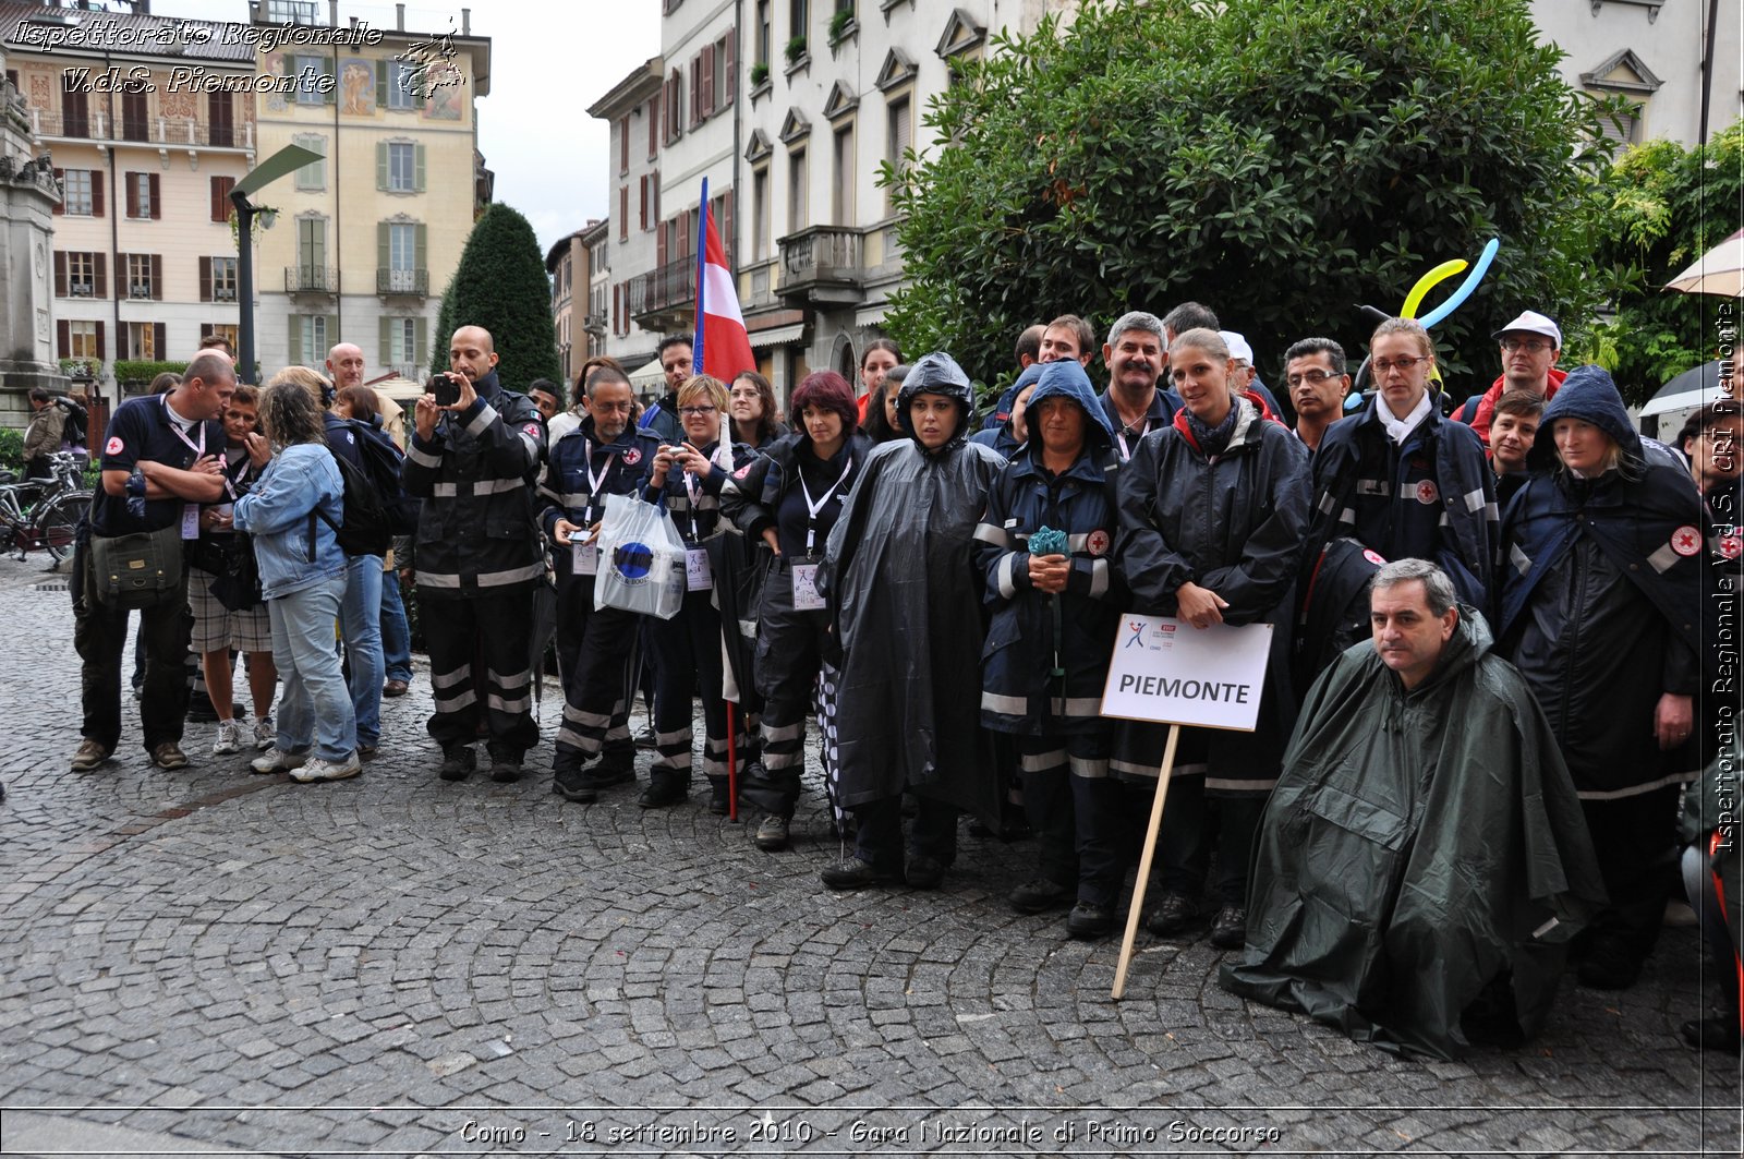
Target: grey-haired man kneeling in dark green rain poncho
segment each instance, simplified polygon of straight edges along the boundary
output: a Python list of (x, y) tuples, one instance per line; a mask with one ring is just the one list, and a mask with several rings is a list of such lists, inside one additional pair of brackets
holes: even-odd
[(1303, 703), (1223, 986), (1395, 1051), (1519, 1042), (1604, 899), (1575, 787), (1439, 567), (1386, 564), (1369, 607)]

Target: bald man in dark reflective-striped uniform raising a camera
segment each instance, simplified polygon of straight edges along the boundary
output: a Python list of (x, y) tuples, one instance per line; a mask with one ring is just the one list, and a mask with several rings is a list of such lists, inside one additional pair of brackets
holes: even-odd
[[(544, 580), (544, 559), (532, 482), (544, 422), (525, 394), (497, 382), (497, 351), (483, 326), (453, 332), (448, 367), (417, 403), (403, 473), (406, 490), (424, 499), (415, 555), (436, 698), (427, 728), (443, 751), (438, 775), (466, 780), (483, 700), (490, 778), (509, 782), (539, 744), (530, 590)], [(474, 656), (483, 662), (481, 689)]]

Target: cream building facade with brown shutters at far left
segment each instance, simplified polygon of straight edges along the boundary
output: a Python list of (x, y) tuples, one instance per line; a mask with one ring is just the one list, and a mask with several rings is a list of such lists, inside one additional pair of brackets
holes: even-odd
[[(220, 24), (0, 3), (7, 79), (54, 159), (54, 356), (187, 360), (235, 339), (225, 201), (258, 157), (253, 54)], [(45, 47), (52, 44), (54, 47)]]

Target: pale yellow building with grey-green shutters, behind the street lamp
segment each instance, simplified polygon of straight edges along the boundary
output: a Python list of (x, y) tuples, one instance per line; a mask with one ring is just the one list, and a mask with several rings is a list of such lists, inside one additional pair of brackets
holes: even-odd
[[(260, 155), (302, 145), (323, 161), (253, 197), (276, 209), (255, 265), (262, 370), (321, 367), (344, 340), (363, 347), (371, 375), (419, 379), (481, 208), (474, 101), (490, 91), (490, 40), (471, 35), (464, 9), (453, 28), (429, 31), (342, 24), (337, 5), (296, 16), (326, 44), (260, 45), (256, 70), (288, 79), (288, 91), (255, 98)], [(251, 17), (284, 19), (265, 3)]]

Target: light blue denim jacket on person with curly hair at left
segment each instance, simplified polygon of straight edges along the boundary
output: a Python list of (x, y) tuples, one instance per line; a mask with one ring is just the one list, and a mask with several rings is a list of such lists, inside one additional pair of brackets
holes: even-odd
[(255, 536), (260, 590), (269, 600), (345, 573), (338, 536), (326, 520), (310, 518), (316, 504), (335, 524), (344, 522), (345, 482), (324, 443), (284, 447), (255, 489), (235, 501), (235, 525)]

